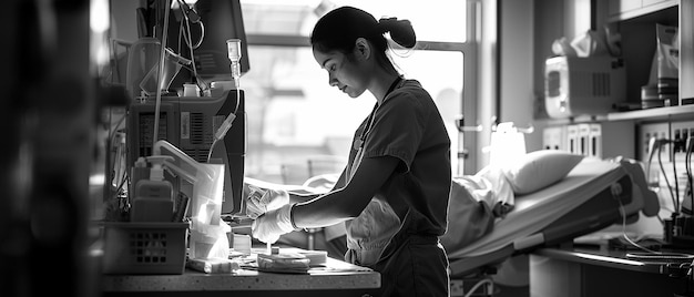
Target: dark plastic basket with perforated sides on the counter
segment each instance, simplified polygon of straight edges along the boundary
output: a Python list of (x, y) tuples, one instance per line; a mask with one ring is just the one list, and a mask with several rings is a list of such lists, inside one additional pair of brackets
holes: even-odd
[(105, 274), (183, 274), (188, 223), (104, 223)]

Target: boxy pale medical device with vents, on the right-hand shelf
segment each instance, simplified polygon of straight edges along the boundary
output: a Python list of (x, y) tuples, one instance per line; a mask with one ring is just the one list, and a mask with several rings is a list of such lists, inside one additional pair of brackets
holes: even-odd
[(550, 117), (605, 114), (625, 100), (621, 59), (553, 57), (544, 65), (544, 105)]

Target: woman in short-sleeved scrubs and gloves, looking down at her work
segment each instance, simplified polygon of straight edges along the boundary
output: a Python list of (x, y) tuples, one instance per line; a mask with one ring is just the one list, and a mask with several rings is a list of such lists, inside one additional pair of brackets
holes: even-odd
[(376, 103), (355, 132), (341, 186), (261, 215), (253, 235), (274, 243), (292, 231), (344, 222), (345, 259), (381, 274), (379, 296), (448, 296), (439, 236), (447, 227), (450, 140), (429, 93), (394, 66), (385, 33), (405, 48), (416, 44), (409, 21), (377, 21), (351, 7), (316, 23), (310, 43), (328, 83), (350, 98), (369, 91)]

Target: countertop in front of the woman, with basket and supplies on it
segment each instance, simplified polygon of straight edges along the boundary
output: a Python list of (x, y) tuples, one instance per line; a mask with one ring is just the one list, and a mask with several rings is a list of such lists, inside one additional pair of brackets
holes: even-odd
[[(186, 268), (182, 275), (103, 275), (104, 296), (363, 296), (380, 287), (380, 274), (368, 268), (328, 258), (325, 266), (307, 274), (262, 273), (235, 269), (205, 274)], [(299, 294), (300, 293), (300, 294)], [(196, 296), (200, 294), (196, 294)]]

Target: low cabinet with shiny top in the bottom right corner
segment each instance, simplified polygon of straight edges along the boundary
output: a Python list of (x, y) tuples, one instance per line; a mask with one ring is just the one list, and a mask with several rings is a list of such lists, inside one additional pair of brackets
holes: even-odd
[(634, 260), (606, 244), (541, 248), (530, 256), (530, 289), (538, 296), (691, 296), (680, 264)]

